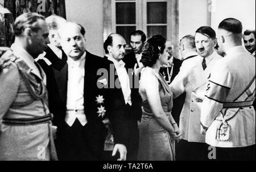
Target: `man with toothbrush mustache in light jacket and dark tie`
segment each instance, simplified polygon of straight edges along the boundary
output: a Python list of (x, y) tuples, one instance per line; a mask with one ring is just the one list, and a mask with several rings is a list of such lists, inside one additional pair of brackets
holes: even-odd
[(186, 94), (180, 114), (182, 140), (177, 160), (207, 160), (208, 154), (205, 136), (200, 134), (200, 106), (212, 66), (222, 57), (214, 50), (216, 33), (208, 26), (197, 29), (195, 44), (199, 55), (185, 60), (179, 74), (170, 84), (174, 98), (184, 92)]

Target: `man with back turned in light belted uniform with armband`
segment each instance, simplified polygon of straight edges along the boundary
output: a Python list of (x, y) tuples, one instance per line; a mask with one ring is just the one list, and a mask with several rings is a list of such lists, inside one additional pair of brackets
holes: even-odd
[(216, 147), (217, 160), (255, 160), (255, 58), (242, 46), (242, 24), (218, 26), (226, 56), (216, 63), (201, 106), (201, 133)]

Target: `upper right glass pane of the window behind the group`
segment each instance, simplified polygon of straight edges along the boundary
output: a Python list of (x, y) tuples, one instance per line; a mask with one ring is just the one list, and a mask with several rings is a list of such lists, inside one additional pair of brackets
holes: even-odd
[(147, 2), (147, 23), (167, 23), (166, 2)]

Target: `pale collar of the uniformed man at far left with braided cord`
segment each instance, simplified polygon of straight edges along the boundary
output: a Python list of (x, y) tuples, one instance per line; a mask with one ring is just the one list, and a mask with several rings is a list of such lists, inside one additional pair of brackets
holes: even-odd
[(11, 45), (11, 49), (13, 50), (13, 53), (16, 55), (16, 57), (22, 58), (23, 61), (27, 63), (27, 66), (31, 68), (31, 72), (33, 74), (42, 79), (40, 71), (34, 63), (34, 58), (25, 49), (23, 49), (22, 46), (14, 43)]

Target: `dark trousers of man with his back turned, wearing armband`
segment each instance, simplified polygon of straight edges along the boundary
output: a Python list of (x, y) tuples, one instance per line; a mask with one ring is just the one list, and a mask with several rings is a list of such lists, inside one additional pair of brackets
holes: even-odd
[(255, 144), (241, 148), (216, 147), (217, 161), (255, 161)]

